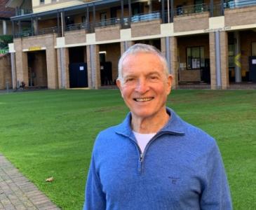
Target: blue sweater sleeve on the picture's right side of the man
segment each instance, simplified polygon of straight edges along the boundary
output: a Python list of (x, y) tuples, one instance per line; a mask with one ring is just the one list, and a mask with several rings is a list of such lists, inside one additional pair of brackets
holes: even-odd
[(217, 144), (212, 147), (206, 161), (206, 185), (201, 195), (201, 209), (231, 210), (229, 184)]

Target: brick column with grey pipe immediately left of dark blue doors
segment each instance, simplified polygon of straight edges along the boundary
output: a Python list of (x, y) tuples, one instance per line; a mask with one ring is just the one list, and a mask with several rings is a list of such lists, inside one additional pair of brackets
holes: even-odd
[(59, 89), (69, 88), (69, 50), (58, 48), (58, 83)]

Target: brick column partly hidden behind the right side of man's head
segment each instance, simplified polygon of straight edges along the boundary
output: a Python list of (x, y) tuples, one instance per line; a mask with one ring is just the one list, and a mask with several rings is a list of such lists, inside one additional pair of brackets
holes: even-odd
[(172, 88), (177, 89), (179, 72), (177, 62), (177, 37), (170, 36), (161, 38), (161, 52), (166, 56), (169, 73), (173, 75)]

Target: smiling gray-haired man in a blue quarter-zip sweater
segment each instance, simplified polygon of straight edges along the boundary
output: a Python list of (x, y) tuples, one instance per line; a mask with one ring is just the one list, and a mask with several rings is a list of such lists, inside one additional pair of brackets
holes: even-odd
[(117, 85), (130, 113), (97, 136), (84, 209), (232, 209), (215, 140), (166, 107), (172, 80), (151, 45), (122, 55)]

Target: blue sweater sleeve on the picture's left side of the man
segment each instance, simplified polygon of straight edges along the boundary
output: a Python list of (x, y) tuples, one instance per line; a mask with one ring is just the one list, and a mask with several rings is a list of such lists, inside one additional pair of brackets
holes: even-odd
[(86, 196), (83, 210), (103, 210), (106, 209), (106, 197), (102, 192), (100, 178), (95, 171), (94, 155), (90, 161), (90, 169), (86, 182)]

